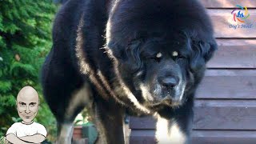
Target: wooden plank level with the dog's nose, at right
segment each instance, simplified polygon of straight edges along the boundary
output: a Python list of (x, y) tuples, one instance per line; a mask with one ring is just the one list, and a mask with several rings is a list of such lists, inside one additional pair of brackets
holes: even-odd
[[(256, 70), (254, 74), (256, 74)], [(254, 76), (206, 76), (198, 86), (196, 98), (256, 98)]]

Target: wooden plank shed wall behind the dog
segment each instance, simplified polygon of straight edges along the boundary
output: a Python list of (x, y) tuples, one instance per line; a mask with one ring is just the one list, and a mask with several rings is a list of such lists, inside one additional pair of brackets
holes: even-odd
[[(192, 143), (255, 144), (256, 1), (200, 1), (214, 24), (218, 52), (196, 94)], [(234, 22), (237, 5), (248, 8), (246, 22)], [(155, 143), (153, 118), (130, 118), (129, 126), (130, 144)]]

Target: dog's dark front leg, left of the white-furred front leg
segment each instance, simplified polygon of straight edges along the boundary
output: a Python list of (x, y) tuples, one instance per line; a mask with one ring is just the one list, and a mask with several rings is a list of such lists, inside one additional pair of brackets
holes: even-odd
[(115, 103), (94, 105), (94, 124), (98, 130), (96, 144), (124, 144), (123, 110)]

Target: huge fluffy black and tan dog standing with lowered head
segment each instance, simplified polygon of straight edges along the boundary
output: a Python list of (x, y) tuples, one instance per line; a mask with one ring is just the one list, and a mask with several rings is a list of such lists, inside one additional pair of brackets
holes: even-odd
[(59, 10), (43, 93), (58, 143), (87, 106), (97, 143), (122, 144), (123, 115), (157, 118), (158, 143), (190, 143), (194, 92), (217, 49), (195, 0), (70, 0)]

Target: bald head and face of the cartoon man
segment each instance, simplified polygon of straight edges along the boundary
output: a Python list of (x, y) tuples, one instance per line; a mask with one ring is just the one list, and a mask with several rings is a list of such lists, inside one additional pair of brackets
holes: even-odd
[(25, 86), (19, 91), (17, 97), (18, 115), (23, 123), (30, 124), (38, 113), (38, 93), (31, 86)]

